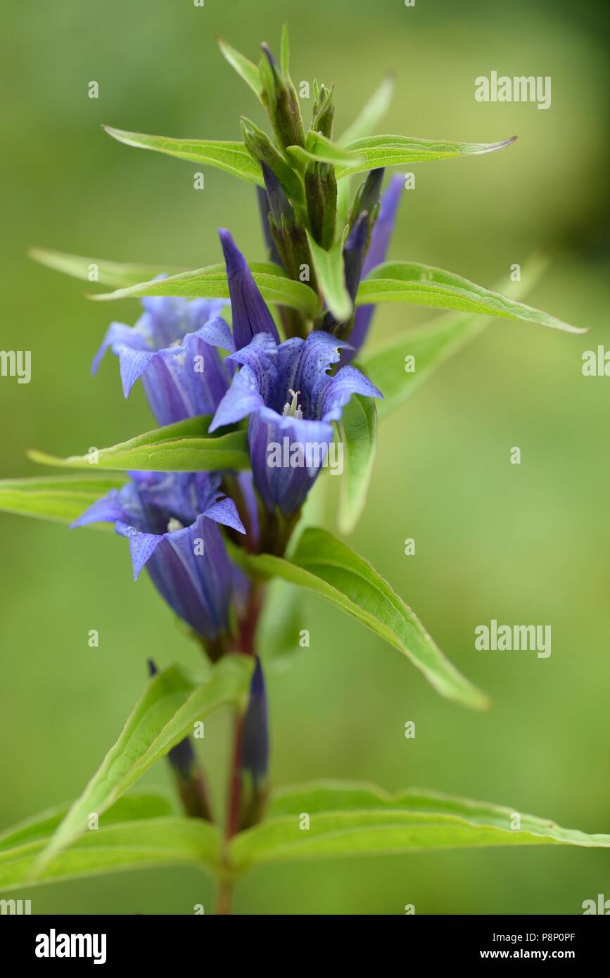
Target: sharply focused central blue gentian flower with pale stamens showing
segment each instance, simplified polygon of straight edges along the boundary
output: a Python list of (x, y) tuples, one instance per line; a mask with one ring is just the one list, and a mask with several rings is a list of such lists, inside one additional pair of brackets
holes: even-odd
[[(228, 232), (225, 232), (228, 236)], [(230, 236), (229, 236), (230, 238)], [(223, 242), (225, 254), (238, 261), (237, 247)], [(259, 317), (270, 317), (243, 256), (241, 269), (240, 317), (253, 333), (247, 345), (225, 333), (218, 336), (230, 355), (225, 363), (239, 365), (240, 372), (220, 402), (210, 432), (225, 424), (248, 418), (248, 444), (254, 484), (265, 509), (276, 508), (283, 516), (298, 512), (321, 467), (333, 439), (331, 422), (339, 421), (352, 394), (381, 397), (381, 393), (359, 370), (343, 367), (330, 377), (328, 369), (339, 361), (339, 342), (323, 331), (306, 339), (292, 337), (283, 343), (277, 333), (260, 329)], [(231, 282), (232, 271), (227, 267)], [(232, 295), (233, 299), (233, 295)], [(234, 333), (236, 331), (236, 310)], [(209, 341), (211, 331), (206, 333)]]

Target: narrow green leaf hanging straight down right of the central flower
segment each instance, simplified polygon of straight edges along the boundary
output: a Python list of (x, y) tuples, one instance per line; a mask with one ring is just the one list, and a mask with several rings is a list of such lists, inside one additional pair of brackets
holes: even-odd
[(377, 449), (377, 411), (372, 397), (354, 394), (343, 408), (338, 429), (345, 456), (338, 526), (341, 533), (347, 534), (365, 509)]

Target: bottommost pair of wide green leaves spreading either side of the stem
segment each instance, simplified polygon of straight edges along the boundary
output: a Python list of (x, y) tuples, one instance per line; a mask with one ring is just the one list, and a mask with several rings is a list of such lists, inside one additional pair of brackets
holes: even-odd
[(84, 832), (41, 865), (64, 814), (43, 813), (0, 836), (1, 890), (154, 866), (193, 865), (216, 876), (240, 876), (267, 864), (484, 846), (610, 848), (610, 835), (562, 828), (514, 808), (321, 781), (279, 791), (264, 821), (234, 836), (224, 859), (214, 825), (175, 816), (163, 796), (149, 793), (121, 798), (97, 831)]

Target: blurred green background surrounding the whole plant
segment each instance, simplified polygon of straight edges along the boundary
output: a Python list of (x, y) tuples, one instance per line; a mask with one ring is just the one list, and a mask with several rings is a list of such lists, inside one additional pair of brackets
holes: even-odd
[[(470, 714), (441, 700), (398, 652), (304, 597), (311, 646), (268, 671), (276, 785), (425, 786), (610, 830), (610, 379), (581, 374), (582, 351), (610, 342), (606, 8), (22, 0), (5, 9), (2, 346), (31, 349), (32, 380), (0, 381), (3, 477), (39, 471), (28, 447), (81, 453), (152, 427), (140, 389), (123, 400), (111, 357), (89, 376), (109, 320), (133, 323), (135, 303), (89, 302), (83, 283), (29, 261), (28, 245), (186, 269), (221, 259), (222, 225), (249, 257), (263, 255), (248, 185), (208, 169), (196, 192), (196, 166), (120, 146), (100, 129), (236, 139), (241, 112), (262, 123), (216, 32), (255, 57), (259, 40), (278, 47), (287, 18), (292, 75), (336, 83), (339, 127), (391, 69), (396, 97), (381, 131), (472, 141), (517, 133), (499, 154), (414, 165), (390, 255), (492, 286), (543, 249), (552, 264), (530, 301), (591, 329), (571, 336), (497, 321), (462, 351), (381, 429), (351, 540), (493, 709)], [(551, 75), (550, 110), (475, 102), (474, 78), (492, 69)], [(428, 318), (382, 308), (371, 341)], [(513, 445), (520, 467), (508, 463)], [(149, 581), (132, 583), (123, 541), (6, 514), (0, 528), (5, 827), (82, 789), (144, 684), (147, 655), (196, 663), (198, 652)], [(415, 556), (404, 556), (406, 537)], [(491, 618), (550, 624), (550, 658), (476, 652), (474, 627)], [(92, 628), (97, 649), (87, 645)], [(228, 732), (225, 716), (206, 724), (217, 799)], [(145, 783), (168, 783), (164, 766)], [(402, 913), (412, 903), (417, 913), (579, 913), (597, 893), (610, 897), (606, 852), (480, 850), (258, 869), (240, 883), (236, 912)], [(212, 910), (212, 885), (196, 870), (17, 895), (34, 912)]]

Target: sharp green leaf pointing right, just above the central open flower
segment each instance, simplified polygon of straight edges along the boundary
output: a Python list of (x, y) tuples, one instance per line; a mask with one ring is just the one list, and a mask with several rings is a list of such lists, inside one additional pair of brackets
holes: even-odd
[(540, 309), (524, 305), (441, 268), (418, 262), (387, 261), (377, 265), (358, 289), (357, 305), (377, 302), (408, 303), (500, 316), (536, 323), (564, 333), (587, 333)]

